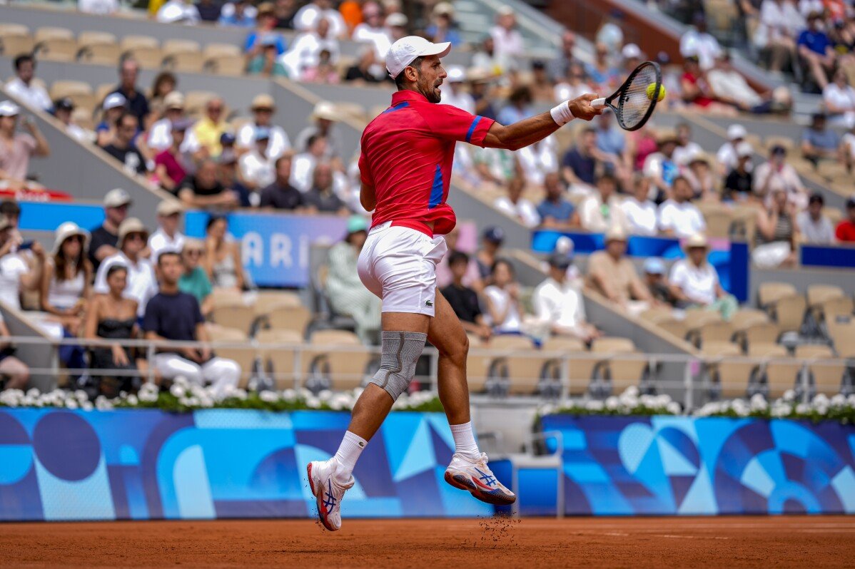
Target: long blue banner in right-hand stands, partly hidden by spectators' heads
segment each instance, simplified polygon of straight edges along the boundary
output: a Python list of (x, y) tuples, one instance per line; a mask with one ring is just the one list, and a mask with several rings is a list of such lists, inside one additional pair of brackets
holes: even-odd
[[(594, 251), (604, 249), (602, 233), (587, 232), (557, 232), (551, 230), (532, 232), (532, 249), (538, 253), (551, 253), (555, 249), (558, 238), (567, 236), (573, 239), (575, 253), (590, 255)], [(680, 239), (642, 237), (634, 235), (627, 243), (627, 255), (633, 257), (660, 257), (665, 260), (681, 259), (686, 256), (681, 247)], [(716, 267), (722, 287), (736, 296), (739, 302), (748, 300), (748, 245), (728, 241), (727, 239), (710, 239), (710, 255), (713, 267)]]

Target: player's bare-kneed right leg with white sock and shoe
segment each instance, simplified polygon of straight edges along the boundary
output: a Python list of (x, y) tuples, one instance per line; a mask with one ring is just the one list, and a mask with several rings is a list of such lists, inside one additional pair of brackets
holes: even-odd
[(516, 501), (514, 493), (493, 476), (486, 454), (475, 443), (469, 419), (469, 384), (466, 381), (466, 358), (469, 338), (460, 326), (457, 314), (439, 290), (436, 293), (436, 315), (430, 321), (428, 340), (439, 351), (439, 401), (454, 437), (454, 455), (445, 470), (445, 481), (467, 490), (482, 502), (507, 505)]

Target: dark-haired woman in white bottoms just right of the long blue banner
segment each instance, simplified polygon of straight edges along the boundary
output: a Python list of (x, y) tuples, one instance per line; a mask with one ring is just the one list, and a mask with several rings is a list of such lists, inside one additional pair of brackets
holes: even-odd
[(773, 190), (769, 198), (769, 206), (757, 212), (757, 243), (752, 261), (760, 268), (793, 267), (799, 240), (795, 208), (781, 188)]

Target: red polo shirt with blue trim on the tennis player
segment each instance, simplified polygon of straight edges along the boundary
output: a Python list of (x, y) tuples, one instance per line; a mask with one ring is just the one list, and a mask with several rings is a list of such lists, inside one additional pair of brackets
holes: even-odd
[(428, 103), (416, 91), (392, 95), (392, 106), (365, 127), (359, 156), (363, 184), (373, 186), (377, 197), (371, 226), (392, 221), (430, 237), (454, 229), (454, 210), (445, 203), (454, 146), (457, 141), (484, 146), (493, 122)]

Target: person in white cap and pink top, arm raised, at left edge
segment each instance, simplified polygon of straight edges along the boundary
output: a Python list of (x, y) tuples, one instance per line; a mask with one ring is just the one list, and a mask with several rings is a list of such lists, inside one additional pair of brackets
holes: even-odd
[(35, 120), (21, 120), (29, 131), (15, 132), (21, 108), (11, 101), (0, 103), (0, 186), (18, 190), (27, 185), (30, 157), (50, 155), (50, 145)]

